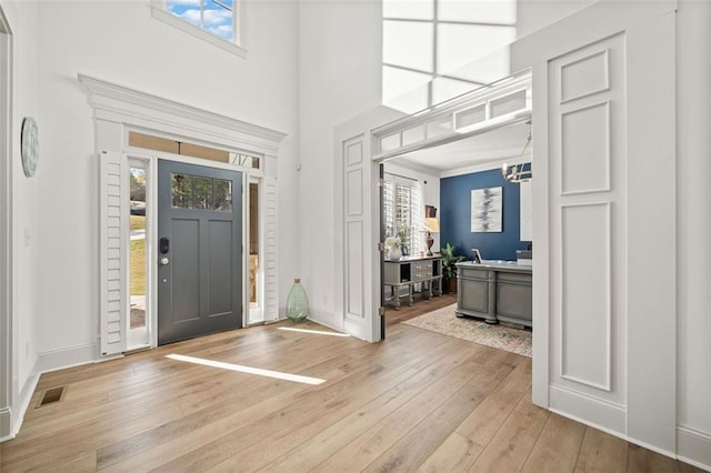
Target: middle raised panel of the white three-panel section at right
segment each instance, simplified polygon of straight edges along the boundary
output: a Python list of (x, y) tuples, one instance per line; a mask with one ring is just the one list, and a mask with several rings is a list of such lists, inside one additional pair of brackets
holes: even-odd
[(561, 194), (610, 190), (610, 102), (561, 115)]

